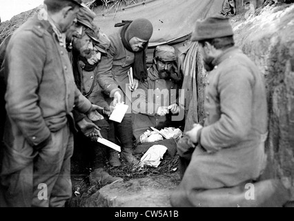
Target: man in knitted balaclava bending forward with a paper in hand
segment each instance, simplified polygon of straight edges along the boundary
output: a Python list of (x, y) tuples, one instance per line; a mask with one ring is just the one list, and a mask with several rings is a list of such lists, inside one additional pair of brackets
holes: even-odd
[[(133, 156), (133, 122), (131, 115), (131, 93), (137, 89), (139, 81), (147, 78), (146, 48), (153, 34), (153, 25), (148, 19), (122, 21), (115, 25), (117, 32), (108, 35), (110, 48), (108, 55), (102, 56), (98, 65), (98, 81), (104, 93), (111, 99), (110, 107), (120, 102), (128, 105), (128, 111), (121, 123), (117, 123), (116, 135), (121, 142), (121, 158), (129, 164), (138, 161)], [(128, 77), (133, 69), (133, 79)], [(110, 154), (110, 164), (120, 166), (117, 152)]]

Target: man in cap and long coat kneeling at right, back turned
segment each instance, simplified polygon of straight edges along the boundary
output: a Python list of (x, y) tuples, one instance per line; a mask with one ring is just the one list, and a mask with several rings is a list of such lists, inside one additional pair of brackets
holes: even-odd
[[(195, 124), (177, 143), (182, 181), (171, 196), (173, 206), (256, 206), (244, 197), (246, 182), (262, 174), (268, 113), (264, 77), (235, 47), (228, 18), (196, 21), (206, 70), (204, 124)], [(263, 187), (262, 187), (263, 188)], [(266, 189), (266, 188), (265, 188)], [(259, 189), (265, 193), (265, 189)], [(261, 193), (261, 192), (255, 192)]]

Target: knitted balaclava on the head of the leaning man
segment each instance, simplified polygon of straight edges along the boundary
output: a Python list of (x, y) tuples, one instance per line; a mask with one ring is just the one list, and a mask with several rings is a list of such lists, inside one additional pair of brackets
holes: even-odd
[(135, 19), (126, 30), (126, 40), (130, 41), (133, 37), (149, 41), (153, 34), (153, 25), (148, 19)]

